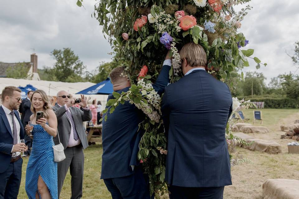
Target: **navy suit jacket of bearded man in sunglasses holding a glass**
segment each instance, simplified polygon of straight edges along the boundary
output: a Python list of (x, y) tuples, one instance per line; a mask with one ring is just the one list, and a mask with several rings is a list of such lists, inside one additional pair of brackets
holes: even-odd
[[(19, 118), (19, 113), (14, 110), (15, 112), (15, 118), (20, 123), (20, 139), (24, 139), (24, 127), (21, 123), (21, 120)], [(3, 173), (7, 170), (10, 159), (12, 158), (12, 146), (13, 146), (13, 133), (10, 128), (7, 116), (3, 110), (3, 108), (0, 106), (0, 173)]]

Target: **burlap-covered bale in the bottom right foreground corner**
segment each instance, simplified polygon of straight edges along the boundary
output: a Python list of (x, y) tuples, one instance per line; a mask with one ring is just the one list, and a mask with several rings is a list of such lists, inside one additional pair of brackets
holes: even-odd
[(263, 199), (298, 199), (299, 180), (268, 179), (263, 183)]

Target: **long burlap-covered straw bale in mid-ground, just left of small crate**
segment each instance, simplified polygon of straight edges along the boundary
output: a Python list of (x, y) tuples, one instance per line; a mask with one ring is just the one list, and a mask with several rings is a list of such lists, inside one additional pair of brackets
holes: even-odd
[(275, 141), (255, 139), (254, 137), (248, 136), (244, 133), (235, 133), (234, 135), (246, 140), (247, 142), (254, 141), (254, 143), (250, 146), (242, 145), (240, 143), (237, 144), (237, 146), (243, 147), (244, 149), (249, 149), (253, 151), (257, 150), (257, 151), (266, 152), (270, 154), (281, 153), (281, 145)]

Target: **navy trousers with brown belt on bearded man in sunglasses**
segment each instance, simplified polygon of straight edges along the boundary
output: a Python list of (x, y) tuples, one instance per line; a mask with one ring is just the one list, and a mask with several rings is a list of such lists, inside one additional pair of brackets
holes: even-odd
[(17, 199), (21, 183), (23, 159), (11, 162), (7, 170), (0, 173), (0, 198)]

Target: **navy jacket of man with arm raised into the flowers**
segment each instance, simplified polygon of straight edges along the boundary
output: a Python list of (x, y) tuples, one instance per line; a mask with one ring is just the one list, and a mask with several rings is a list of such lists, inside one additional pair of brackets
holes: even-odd
[[(154, 89), (162, 94), (165, 86), (169, 82), (170, 66), (163, 66), (157, 81), (153, 84)], [(130, 87), (126, 87), (116, 92), (126, 92)], [(113, 99), (109, 95), (108, 99)], [(108, 108), (106, 106), (106, 108)], [(144, 120), (144, 113), (130, 104), (120, 104), (112, 114), (108, 112), (107, 121), (102, 121), (102, 174), (101, 179), (119, 178), (134, 173), (131, 165), (138, 165), (137, 154), (139, 142), (143, 135), (141, 130), (138, 132), (138, 124)], [(103, 118), (105, 114), (103, 115)]]

